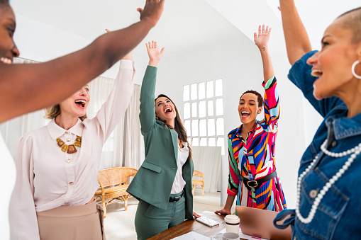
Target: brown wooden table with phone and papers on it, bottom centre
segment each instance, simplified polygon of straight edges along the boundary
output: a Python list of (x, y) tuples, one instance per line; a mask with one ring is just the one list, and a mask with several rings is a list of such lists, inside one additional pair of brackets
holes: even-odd
[(219, 225), (215, 227), (208, 227), (205, 224), (201, 224), (197, 222), (196, 219), (194, 220), (187, 220), (178, 224), (170, 229), (165, 230), (165, 232), (161, 232), (155, 236), (152, 236), (150, 240), (157, 240), (157, 239), (174, 239), (174, 237), (182, 236), (183, 234), (187, 234), (188, 232), (196, 232), (202, 234), (204, 236), (214, 236), (221, 232), (222, 229), (226, 228), (226, 224), (224, 223), (225, 215), (216, 215), (215, 213), (202, 213), (202, 216), (208, 217), (210, 219), (216, 220), (219, 222)]

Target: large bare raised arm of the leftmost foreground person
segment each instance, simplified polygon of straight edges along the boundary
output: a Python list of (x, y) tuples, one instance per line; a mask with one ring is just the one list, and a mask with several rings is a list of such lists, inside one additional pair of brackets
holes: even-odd
[(109, 69), (153, 28), (165, 0), (146, 0), (140, 21), (101, 35), (82, 50), (40, 64), (0, 65), (0, 122), (55, 105)]

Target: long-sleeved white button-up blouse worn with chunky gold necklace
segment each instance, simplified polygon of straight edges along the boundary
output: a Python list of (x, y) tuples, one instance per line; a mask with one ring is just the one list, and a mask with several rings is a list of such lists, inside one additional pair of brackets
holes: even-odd
[[(95, 118), (78, 120), (70, 130), (52, 120), (21, 138), (9, 214), (11, 239), (39, 239), (36, 212), (84, 205), (93, 198), (102, 148), (128, 108), (134, 73), (133, 61), (121, 60), (113, 90)], [(69, 145), (77, 136), (82, 137), (77, 153), (57, 146), (57, 137)]]

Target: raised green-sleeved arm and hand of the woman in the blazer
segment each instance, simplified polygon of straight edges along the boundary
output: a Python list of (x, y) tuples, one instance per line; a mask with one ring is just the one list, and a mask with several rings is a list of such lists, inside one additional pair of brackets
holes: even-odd
[(157, 81), (157, 64), (163, 57), (165, 48), (158, 51), (157, 42), (152, 41), (145, 43), (149, 56), (149, 64), (145, 70), (142, 88), (140, 89), (140, 113), (139, 120), (141, 125), (141, 132), (152, 130), (155, 125), (155, 82)]

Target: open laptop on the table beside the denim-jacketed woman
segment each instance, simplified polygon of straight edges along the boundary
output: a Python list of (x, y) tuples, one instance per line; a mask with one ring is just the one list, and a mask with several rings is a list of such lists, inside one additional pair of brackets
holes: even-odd
[(291, 239), (290, 226), (286, 229), (274, 227), (273, 220), (279, 212), (243, 206), (235, 206), (235, 210), (240, 218), (240, 229), (243, 234), (271, 240)]

